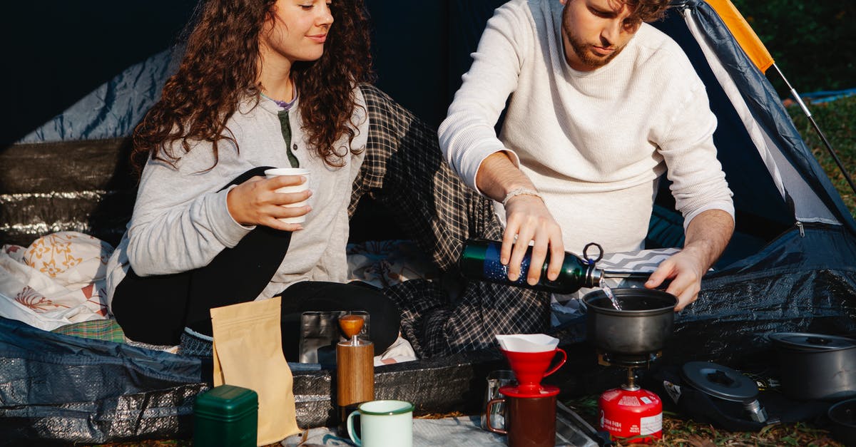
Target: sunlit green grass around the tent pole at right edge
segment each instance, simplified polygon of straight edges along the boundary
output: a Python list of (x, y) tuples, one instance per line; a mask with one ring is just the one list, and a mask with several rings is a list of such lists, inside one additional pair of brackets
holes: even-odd
[[(851, 179), (856, 176), (856, 95), (839, 98), (828, 103), (808, 104), (811, 115), (817, 125), (826, 135), (829, 144), (841, 159)], [(845, 180), (841, 170), (835, 164), (832, 156), (823, 145), (823, 140), (815, 132), (800, 106), (790, 105), (788, 113), (794, 120), (794, 125), (800, 131), (805, 144), (829, 176), (841, 199), (856, 218), (856, 194)], [(856, 181), (856, 179), (854, 179)]]

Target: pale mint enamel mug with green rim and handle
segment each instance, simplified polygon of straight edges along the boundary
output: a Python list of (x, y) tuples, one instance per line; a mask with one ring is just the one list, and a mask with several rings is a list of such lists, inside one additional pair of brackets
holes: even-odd
[[(354, 417), (360, 417), (360, 436), (354, 432)], [(348, 414), (348, 436), (362, 447), (413, 447), (413, 403), (405, 401), (363, 402)]]

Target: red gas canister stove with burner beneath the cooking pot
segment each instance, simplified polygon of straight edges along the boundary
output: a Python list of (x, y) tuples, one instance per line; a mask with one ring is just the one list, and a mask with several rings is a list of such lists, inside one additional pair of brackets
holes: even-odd
[(663, 437), (663, 402), (649, 390), (636, 384), (635, 370), (648, 367), (660, 353), (648, 355), (616, 355), (598, 353), (601, 365), (627, 369), (627, 383), (600, 395), (600, 427), (625, 442), (648, 443)]

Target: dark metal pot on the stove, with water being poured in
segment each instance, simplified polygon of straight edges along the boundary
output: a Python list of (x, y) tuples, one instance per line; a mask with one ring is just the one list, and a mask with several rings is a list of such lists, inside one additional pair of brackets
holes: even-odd
[(583, 296), (588, 339), (610, 354), (649, 355), (663, 349), (675, 322), (675, 295), (654, 289), (612, 289), (621, 310), (603, 290)]

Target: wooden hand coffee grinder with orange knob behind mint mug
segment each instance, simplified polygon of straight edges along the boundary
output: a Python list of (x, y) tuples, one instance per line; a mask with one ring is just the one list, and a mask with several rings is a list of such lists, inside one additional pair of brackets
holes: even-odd
[(374, 344), (357, 337), (363, 327), (359, 315), (345, 315), (339, 327), (348, 340), (336, 345), (336, 400), (344, 418), (357, 404), (374, 400)]

